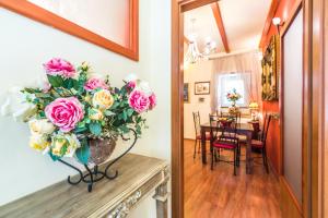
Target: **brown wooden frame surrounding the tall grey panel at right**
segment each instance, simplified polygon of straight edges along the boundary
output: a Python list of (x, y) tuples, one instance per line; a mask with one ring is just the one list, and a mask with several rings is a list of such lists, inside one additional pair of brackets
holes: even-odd
[[(290, 29), (291, 24), (293, 23), (293, 21), (295, 20), (296, 15), (300, 13), (300, 11), (303, 10), (303, 94), (302, 94), (302, 202), (298, 203), (298, 201), (296, 199), (289, 182), (286, 181), (285, 177), (284, 177), (284, 154), (283, 154), (283, 147), (284, 147), (284, 105), (283, 105), (283, 100), (284, 100), (284, 52), (283, 52), (283, 38), (286, 34), (286, 32)], [(311, 122), (309, 120), (309, 110), (311, 110), (311, 90), (307, 88), (309, 83), (311, 83), (311, 71), (308, 70), (309, 66), (309, 57), (306, 56), (307, 52), (309, 51), (309, 47), (308, 47), (308, 37), (307, 37), (307, 33), (305, 32), (306, 29), (306, 21), (308, 20), (308, 17), (306, 16), (306, 5), (304, 5), (304, 1), (302, 0), (297, 0), (294, 4), (294, 8), (291, 11), (291, 15), (288, 19), (288, 21), (284, 23), (284, 26), (280, 33), (280, 96), (279, 96), (279, 110), (280, 110), (280, 175), (279, 175), (279, 180), (280, 180), (280, 186), (281, 186), (281, 192), (282, 192), (282, 198), (281, 198), (281, 204), (282, 204), (282, 208), (288, 208), (289, 210), (293, 210), (290, 213), (296, 213), (300, 216), (304, 216), (304, 217), (308, 217), (308, 215), (306, 215), (309, 209), (311, 209), (311, 205), (308, 204), (308, 196), (309, 196), (309, 190), (308, 187), (311, 186), (311, 180), (308, 179), (309, 175), (309, 171), (307, 169), (309, 169), (308, 166), (308, 159), (309, 159), (309, 153), (308, 153), (308, 148), (309, 148), (309, 144), (311, 142), (308, 141), (309, 137), (309, 126), (308, 123)], [(292, 209), (293, 208), (293, 209)]]

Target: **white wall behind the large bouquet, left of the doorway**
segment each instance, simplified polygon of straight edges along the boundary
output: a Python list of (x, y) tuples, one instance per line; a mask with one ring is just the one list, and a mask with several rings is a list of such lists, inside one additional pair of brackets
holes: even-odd
[[(40, 64), (52, 57), (62, 57), (75, 64), (87, 60), (95, 71), (109, 73), (113, 85), (121, 85), (127, 74), (137, 73), (151, 83), (159, 102), (148, 116), (150, 129), (144, 131), (133, 153), (169, 160), (171, 2), (139, 2), (139, 62), (0, 9), (0, 93), (13, 85), (32, 83), (43, 73)], [(0, 205), (63, 180), (72, 172), (32, 150), (27, 143), (26, 124), (0, 118), (0, 170), (3, 175), (0, 180)], [(151, 202), (145, 199), (131, 217), (154, 217), (155, 205)]]

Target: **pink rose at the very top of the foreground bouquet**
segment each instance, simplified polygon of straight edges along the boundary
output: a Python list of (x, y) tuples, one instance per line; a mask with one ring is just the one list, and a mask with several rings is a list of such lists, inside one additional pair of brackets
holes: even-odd
[(44, 63), (44, 68), (48, 75), (61, 75), (67, 78), (75, 75), (74, 66), (60, 58), (49, 60), (47, 63)]

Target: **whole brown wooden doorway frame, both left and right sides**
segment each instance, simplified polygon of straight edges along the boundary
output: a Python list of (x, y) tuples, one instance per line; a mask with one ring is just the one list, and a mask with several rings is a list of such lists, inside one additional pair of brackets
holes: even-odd
[[(172, 2), (172, 217), (184, 217), (184, 17), (183, 13), (215, 0), (171, 0)], [(328, 24), (328, 5), (325, 0), (303, 0), (304, 10), (304, 84), (309, 95), (307, 102), (307, 133), (303, 136), (306, 141), (304, 149), (305, 172), (303, 177), (305, 199), (303, 201), (304, 217), (323, 217), (324, 215), (324, 148), (328, 143), (325, 137), (325, 118), (328, 119), (328, 94), (325, 95), (325, 80), (328, 74), (328, 63), (325, 64), (324, 41), (328, 38), (327, 29), (324, 31), (324, 21)], [(326, 15), (326, 16), (325, 16)], [(326, 41), (328, 44), (328, 39)], [(328, 53), (327, 53), (328, 55)], [(327, 60), (328, 62), (328, 60)], [(325, 66), (325, 68), (324, 68)], [(328, 80), (327, 80), (328, 81)], [(281, 87), (281, 86), (280, 86)], [(326, 88), (328, 89), (328, 88)], [(326, 129), (325, 129), (326, 126)], [(326, 141), (325, 141), (326, 140)], [(327, 192), (327, 191), (326, 191)], [(327, 193), (328, 194), (328, 193)]]

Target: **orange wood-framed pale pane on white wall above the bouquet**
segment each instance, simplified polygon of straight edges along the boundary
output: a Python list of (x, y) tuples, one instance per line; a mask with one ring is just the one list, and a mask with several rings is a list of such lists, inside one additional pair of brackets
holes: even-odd
[(0, 0), (0, 7), (139, 60), (138, 0)]

